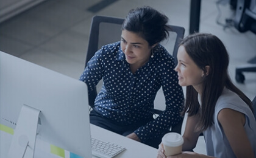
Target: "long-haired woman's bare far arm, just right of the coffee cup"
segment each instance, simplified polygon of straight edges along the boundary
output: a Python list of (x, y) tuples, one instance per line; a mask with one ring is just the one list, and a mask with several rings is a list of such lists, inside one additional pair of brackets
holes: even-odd
[(183, 134), (184, 143), (182, 151), (192, 151), (196, 147), (198, 137), (201, 132), (196, 131), (199, 122), (199, 115), (188, 116), (185, 131)]

